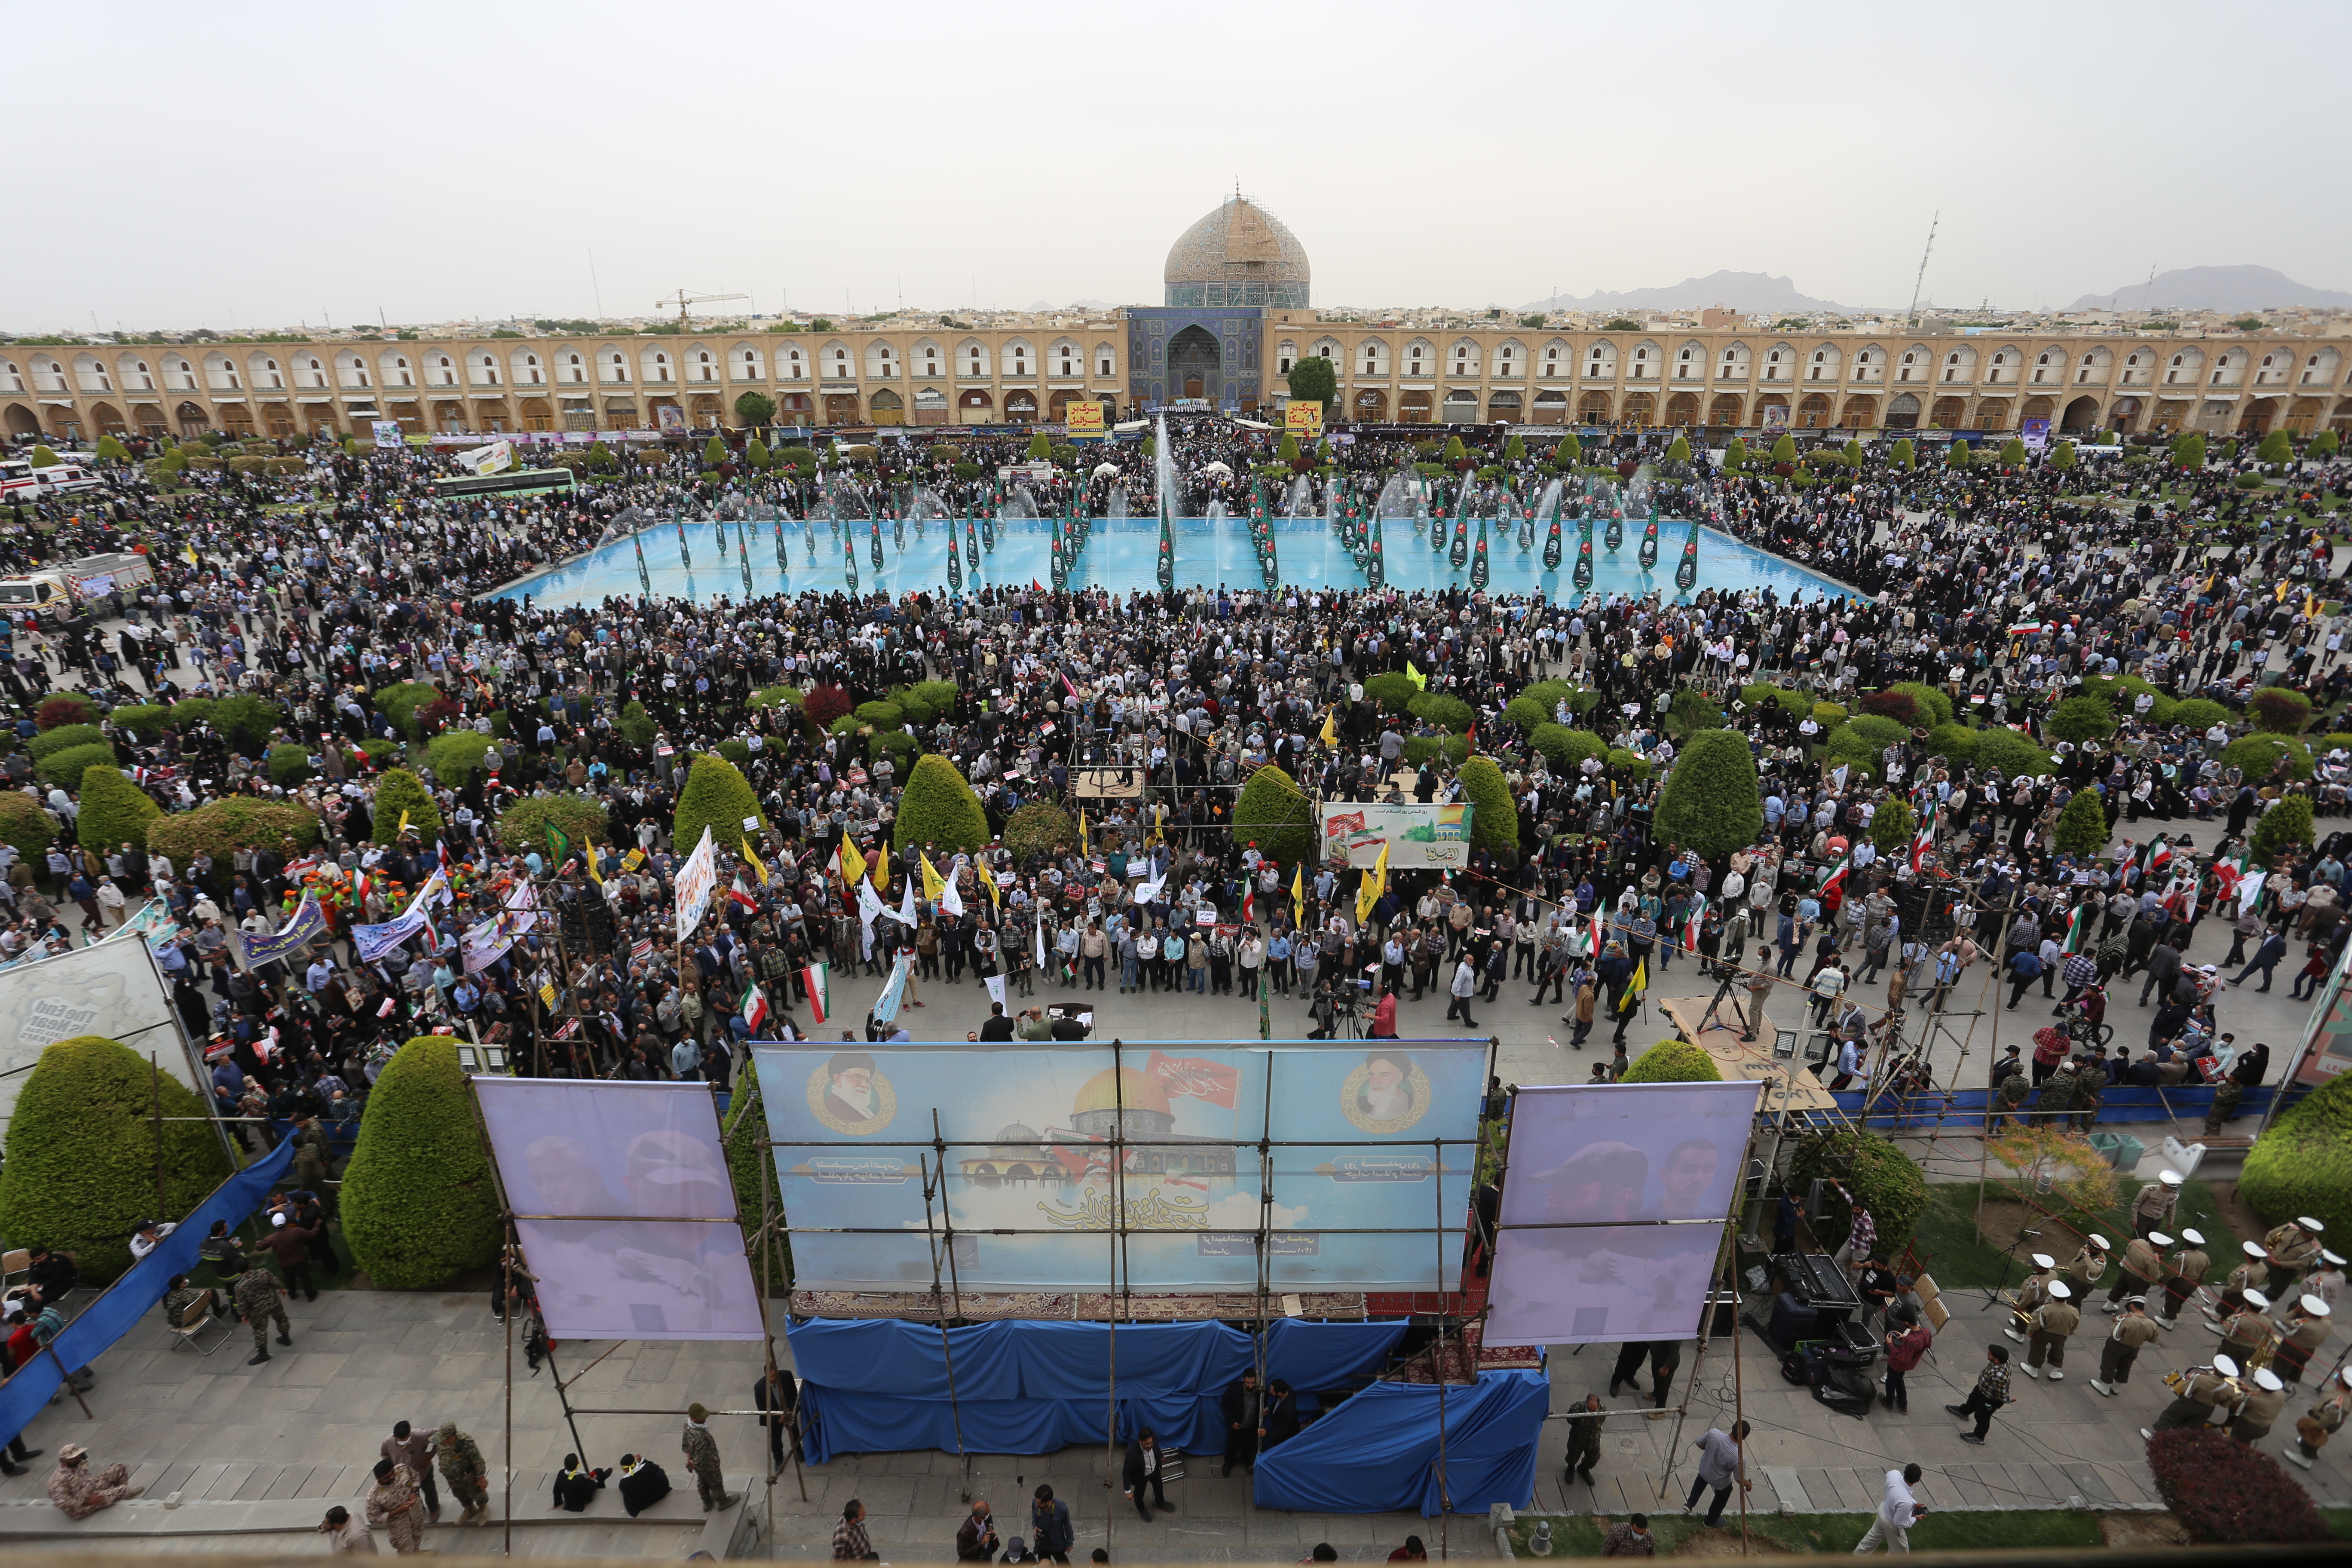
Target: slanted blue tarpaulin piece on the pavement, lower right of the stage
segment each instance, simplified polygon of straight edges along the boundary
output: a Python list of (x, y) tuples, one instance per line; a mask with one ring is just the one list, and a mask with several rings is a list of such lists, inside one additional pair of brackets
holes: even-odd
[(1301, 1514), (1421, 1509), (1484, 1514), (1536, 1502), (1536, 1439), (1552, 1408), (1543, 1371), (1479, 1373), (1444, 1389), (1446, 1476), (1437, 1483), (1437, 1385), (1374, 1382), (1272, 1453), (1256, 1502)]

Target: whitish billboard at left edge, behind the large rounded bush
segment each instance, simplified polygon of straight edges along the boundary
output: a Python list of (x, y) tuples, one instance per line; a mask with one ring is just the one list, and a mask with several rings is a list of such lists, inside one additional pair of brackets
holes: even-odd
[(139, 933), (0, 969), (0, 1121), (40, 1053), (61, 1039), (103, 1034), (209, 1100), (172, 1013), (172, 987)]

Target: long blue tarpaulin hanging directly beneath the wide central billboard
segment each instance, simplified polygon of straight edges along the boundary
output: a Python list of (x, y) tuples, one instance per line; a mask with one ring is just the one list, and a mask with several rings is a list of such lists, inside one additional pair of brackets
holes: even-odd
[[(1277, 1321), (1265, 1378), (1312, 1392), (1376, 1371), (1404, 1324)], [(811, 1319), (786, 1331), (804, 1385), (807, 1453), (1051, 1453), (1105, 1441), (1117, 1356), (1117, 1434), (1150, 1427), (1176, 1453), (1223, 1453), (1218, 1396), (1256, 1366), (1256, 1340), (1225, 1324), (974, 1324)], [(955, 1399), (948, 1399), (948, 1368)]]

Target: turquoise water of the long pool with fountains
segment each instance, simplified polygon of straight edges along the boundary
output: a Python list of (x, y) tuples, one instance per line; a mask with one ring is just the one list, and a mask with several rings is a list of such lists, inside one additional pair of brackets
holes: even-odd
[[(786, 522), (783, 548), (788, 569), (776, 569), (776, 524), (746, 524), (743, 543), (750, 555), (753, 595), (771, 592), (833, 592), (847, 585), (842, 569), (844, 538), (826, 522)], [(882, 522), (882, 567), (873, 564), (873, 524), (842, 524), (854, 536), (858, 550), (858, 588), (873, 592), (946, 590), (948, 585), (948, 538), (941, 524), (927, 524), (922, 536), (913, 524), (906, 529), (906, 550), (894, 543), (889, 520)], [(1658, 567), (1642, 571), (1639, 524), (1628, 524), (1625, 543), (1616, 552), (1606, 550), (1602, 534), (1592, 538), (1592, 592), (1661, 592), (1677, 597), (1675, 567), (1682, 559), (1684, 522), (1661, 520)], [(1322, 520), (1277, 517), (1275, 562), (1282, 581), (1296, 588), (1362, 588), (1364, 574), (1341, 545), (1338, 536)], [(724, 543), (720, 534), (724, 531)], [(741, 602), (743, 567), (736, 524), (689, 522), (684, 524), (687, 555), (691, 569), (680, 564), (677, 529), (659, 524), (637, 534), (635, 545), (644, 548), (644, 567), (656, 595), (710, 602), (720, 595)], [(962, 524), (957, 524), (962, 543)], [(1176, 536), (1176, 583), (1178, 588), (1258, 588), (1258, 564), (1249, 548), (1249, 529), (1240, 517), (1178, 517)], [(816, 557), (809, 557), (809, 541)], [(1025, 585), (1030, 581), (1051, 583), (1051, 520), (1014, 520), (1000, 524), (997, 548), (981, 550), (978, 571), (964, 571), (964, 588)], [(1411, 524), (1383, 524), (1388, 559), (1388, 585), (1399, 590), (1470, 585), (1470, 567), (1454, 567), (1449, 550), (1430, 548), (1428, 534), (1414, 534)], [(1472, 550), (1477, 524), (1470, 524)], [(529, 595), (539, 604), (600, 604), (607, 595), (642, 592), (637, 578), (637, 550), (626, 538), (602, 545), (576, 562), (555, 567), (534, 578), (524, 578), (499, 597), (520, 599)], [(1157, 588), (1160, 520), (1157, 517), (1105, 517), (1096, 520), (1087, 548), (1070, 571), (1073, 585), (1096, 585), (1127, 592), (1131, 588)], [(1489, 581), (1496, 595), (1545, 592), (1555, 602), (1576, 597), (1576, 529), (1562, 531), (1559, 571), (1543, 569), (1543, 529), (1536, 543), (1522, 550), (1517, 536), (1486, 534)], [(1783, 599), (1804, 592), (1820, 595), (1851, 592), (1839, 583), (1795, 567), (1778, 555), (1743, 545), (1715, 529), (1698, 531), (1698, 588), (1771, 588)]]

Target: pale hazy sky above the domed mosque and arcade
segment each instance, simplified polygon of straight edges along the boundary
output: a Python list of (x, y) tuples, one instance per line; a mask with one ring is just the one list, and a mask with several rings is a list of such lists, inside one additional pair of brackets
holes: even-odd
[(106, 16), (0, 0), (12, 118), (40, 127), (0, 329), (628, 315), (680, 287), (1157, 303), (1235, 179), (1324, 306), (1715, 268), (1900, 306), (1936, 209), (1943, 303), (2067, 303), (2152, 263), (2352, 287), (2321, 172), (2345, 5)]

